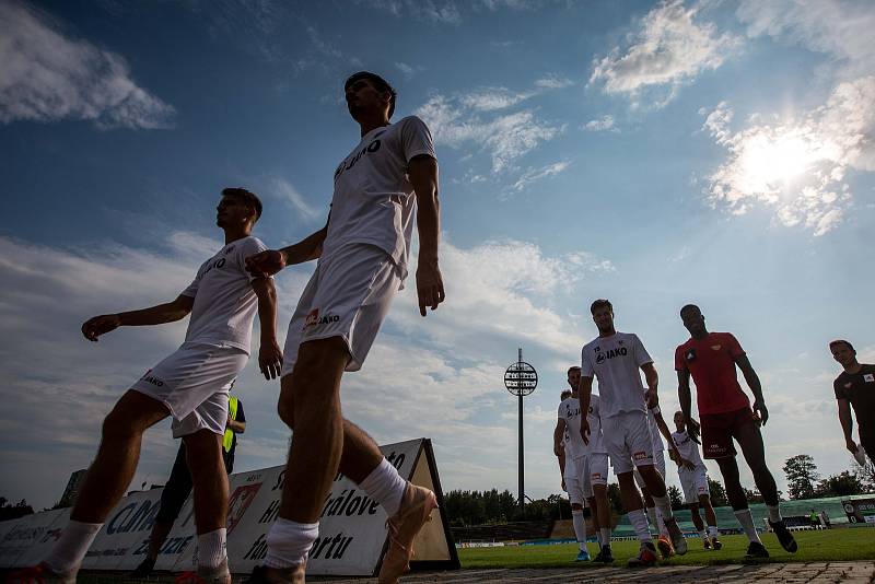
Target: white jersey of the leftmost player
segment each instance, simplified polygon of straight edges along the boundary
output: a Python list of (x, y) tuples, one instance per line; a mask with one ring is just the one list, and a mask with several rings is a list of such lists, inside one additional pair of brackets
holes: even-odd
[(195, 281), (182, 293), (195, 299), (186, 342), (236, 347), (249, 353), (258, 297), (244, 260), (265, 249), (250, 235), (225, 245), (200, 266)]

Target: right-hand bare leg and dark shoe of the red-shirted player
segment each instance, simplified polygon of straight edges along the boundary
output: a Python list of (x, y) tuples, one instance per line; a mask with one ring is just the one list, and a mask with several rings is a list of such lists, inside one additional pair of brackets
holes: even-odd
[(748, 416), (747, 411), (736, 418), (733, 427), (733, 436), (738, 442), (738, 446), (742, 447), (745, 462), (754, 475), (754, 482), (762, 494), (762, 501), (769, 511), (769, 525), (778, 536), (781, 547), (791, 553), (795, 553), (798, 546), (781, 517), (778, 486), (769, 467), (766, 465), (766, 448), (762, 444), (759, 424)]

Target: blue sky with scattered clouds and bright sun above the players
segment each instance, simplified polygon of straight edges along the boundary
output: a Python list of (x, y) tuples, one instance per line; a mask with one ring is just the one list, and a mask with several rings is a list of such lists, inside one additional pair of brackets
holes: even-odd
[[(361, 69), (434, 136), (446, 302), (422, 318), (398, 295), (345, 416), (382, 444), (430, 437), (444, 490), (515, 493), (503, 372), (522, 348), (539, 374), (526, 494), (558, 493), (590, 303), (639, 335), (673, 412), (692, 302), (762, 379), (779, 488), (796, 454), (850, 468), (827, 343), (875, 361), (873, 30), (864, 0), (0, 0), (0, 495), (54, 504), (115, 400), (182, 342), (185, 322), (96, 344), (80, 326), (176, 297), (222, 245), (223, 187), (261, 197), (268, 246), (324, 225)], [(277, 278), (280, 342), (313, 269)], [(237, 390), (236, 469), (282, 464), (278, 382), (250, 360)], [(151, 429), (132, 487), (163, 483), (175, 449), (168, 422)]]

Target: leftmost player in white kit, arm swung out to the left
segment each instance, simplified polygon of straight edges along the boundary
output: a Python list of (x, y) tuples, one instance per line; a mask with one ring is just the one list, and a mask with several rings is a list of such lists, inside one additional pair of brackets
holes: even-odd
[(276, 336), (276, 291), (269, 277), (253, 277), (245, 258), (265, 249), (250, 235), (261, 202), (242, 188), (222, 191), (217, 224), (225, 245), (208, 259), (194, 282), (168, 303), (95, 316), (82, 325), (91, 341), (118, 327), (173, 323), (188, 316), (185, 342), (149, 370), (106, 417), (97, 456), (89, 468), (70, 522), (45, 561), (21, 576), (39, 582), (74, 583), (85, 556), (109, 511), (125, 494), (140, 456), (143, 432), (173, 418), (195, 484), (198, 574), (203, 582), (228, 584), (225, 554), (228, 476), (222, 436), (228, 420), (228, 389), (249, 357), (256, 312), (261, 326), (258, 363), (267, 378), (279, 376), (282, 353)]

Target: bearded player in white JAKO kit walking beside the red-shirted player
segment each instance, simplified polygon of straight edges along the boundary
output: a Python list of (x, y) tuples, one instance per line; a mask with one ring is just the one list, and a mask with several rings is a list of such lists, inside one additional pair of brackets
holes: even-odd
[[(597, 300), (590, 307), (598, 337), (581, 351), (581, 407), (588, 408), (593, 378), (598, 377), (602, 407), (602, 433), (614, 472), (620, 484), (620, 495), (629, 521), (635, 529), (641, 550), (630, 565), (653, 565), (658, 551), (648, 528), (641, 495), (635, 488), (632, 469), (638, 467), (653, 501), (663, 514), (672, 544), (679, 554), (687, 552), (684, 534), (672, 513), (665, 480), (653, 466), (653, 443), (648, 423), (648, 406), (658, 405), (658, 375), (653, 360), (638, 336), (617, 332), (614, 328), (614, 307), (607, 300)], [(639, 369), (644, 372), (648, 389), (641, 384)], [(590, 428), (581, 423), (584, 440)]]

